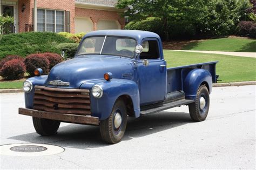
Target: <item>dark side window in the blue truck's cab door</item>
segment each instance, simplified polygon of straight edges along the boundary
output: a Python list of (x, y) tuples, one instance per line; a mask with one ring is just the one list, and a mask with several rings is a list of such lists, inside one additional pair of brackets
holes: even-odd
[(143, 51), (140, 53), (140, 59), (160, 58), (157, 40), (144, 40), (142, 46)]

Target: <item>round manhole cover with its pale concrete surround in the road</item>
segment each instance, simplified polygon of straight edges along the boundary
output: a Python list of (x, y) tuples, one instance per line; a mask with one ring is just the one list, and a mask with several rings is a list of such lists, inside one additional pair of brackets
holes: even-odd
[(35, 157), (55, 155), (64, 152), (65, 149), (56, 145), (46, 144), (8, 144), (0, 146), (1, 155)]

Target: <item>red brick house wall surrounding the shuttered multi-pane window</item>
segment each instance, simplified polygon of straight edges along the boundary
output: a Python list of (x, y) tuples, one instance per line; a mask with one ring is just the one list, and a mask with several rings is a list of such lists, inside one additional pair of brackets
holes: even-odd
[[(25, 24), (32, 24), (32, 9), (34, 8), (33, 0), (20, 0), (19, 9), (25, 3), (26, 9), (24, 12), (19, 10), (19, 32), (25, 31)], [(37, 8), (66, 10), (70, 11), (70, 30), (75, 32), (75, 0), (37, 0)]]

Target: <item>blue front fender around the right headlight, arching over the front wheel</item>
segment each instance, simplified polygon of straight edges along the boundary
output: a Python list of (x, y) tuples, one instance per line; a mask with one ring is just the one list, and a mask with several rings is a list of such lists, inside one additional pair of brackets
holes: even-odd
[[(135, 117), (139, 117), (139, 88), (132, 80), (112, 79), (110, 81), (97, 81), (93, 85), (99, 85), (103, 89), (103, 96), (99, 99), (92, 96), (91, 98), (91, 113), (93, 117), (98, 117), (99, 120), (104, 120), (109, 117), (112, 108), (118, 97), (128, 95), (132, 99)], [(92, 82), (84, 83), (80, 89), (87, 89), (93, 86)]]

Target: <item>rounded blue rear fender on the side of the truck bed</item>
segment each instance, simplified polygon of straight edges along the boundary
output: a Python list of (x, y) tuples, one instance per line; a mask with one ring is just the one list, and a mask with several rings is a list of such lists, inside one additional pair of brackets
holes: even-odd
[(212, 75), (210, 72), (204, 69), (191, 70), (184, 80), (183, 90), (186, 95), (186, 99), (195, 100), (197, 97), (197, 91), (199, 86), (206, 82), (209, 88), (209, 93), (212, 91)]

